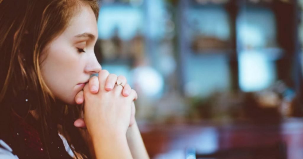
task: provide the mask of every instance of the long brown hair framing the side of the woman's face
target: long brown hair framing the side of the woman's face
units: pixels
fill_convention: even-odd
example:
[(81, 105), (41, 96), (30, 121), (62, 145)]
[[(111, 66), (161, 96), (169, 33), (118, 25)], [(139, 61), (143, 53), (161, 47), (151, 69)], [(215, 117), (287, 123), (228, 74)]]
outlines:
[(47, 134), (46, 118), (55, 97), (42, 78), (40, 56), (83, 3), (98, 19), (98, 0), (0, 0), (0, 103), (30, 87), (38, 102), (42, 136)]

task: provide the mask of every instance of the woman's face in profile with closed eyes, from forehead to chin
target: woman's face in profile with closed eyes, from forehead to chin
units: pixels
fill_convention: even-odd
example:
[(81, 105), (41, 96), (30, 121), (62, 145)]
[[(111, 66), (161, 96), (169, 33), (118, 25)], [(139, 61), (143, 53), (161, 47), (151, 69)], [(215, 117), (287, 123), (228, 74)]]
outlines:
[(83, 5), (65, 31), (43, 51), (42, 77), (56, 98), (75, 104), (76, 94), (90, 75), (101, 70), (94, 53), (97, 36), (95, 14)]

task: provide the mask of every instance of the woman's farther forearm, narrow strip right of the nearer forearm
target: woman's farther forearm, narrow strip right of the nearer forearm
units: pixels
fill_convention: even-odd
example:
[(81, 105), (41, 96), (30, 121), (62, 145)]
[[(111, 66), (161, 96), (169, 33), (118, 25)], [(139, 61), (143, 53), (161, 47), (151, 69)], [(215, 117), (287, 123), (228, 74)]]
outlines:
[(134, 159), (149, 159), (139, 128), (135, 122), (126, 132), (128, 147)]

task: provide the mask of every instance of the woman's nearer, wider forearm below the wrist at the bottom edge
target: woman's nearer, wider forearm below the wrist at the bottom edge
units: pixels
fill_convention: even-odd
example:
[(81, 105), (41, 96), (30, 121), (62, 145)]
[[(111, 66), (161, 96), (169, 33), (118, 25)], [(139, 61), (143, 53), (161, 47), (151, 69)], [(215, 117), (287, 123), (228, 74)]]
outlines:
[(132, 159), (125, 135), (102, 134), (92, 141), (97, 159)]

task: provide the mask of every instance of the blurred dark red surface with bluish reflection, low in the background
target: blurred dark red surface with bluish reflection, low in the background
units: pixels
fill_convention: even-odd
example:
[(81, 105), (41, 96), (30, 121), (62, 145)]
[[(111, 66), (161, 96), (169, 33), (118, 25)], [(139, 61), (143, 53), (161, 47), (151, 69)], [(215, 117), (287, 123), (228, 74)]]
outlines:
[(288, 159), (303, 158), (303, 120), (290, 119), (281, 124), (251, 125), (139, 125), (151, 158), (172, 150), (184, 150), (203, 143), (203, 133), (217, 130), (218, 148), (260, 147), (284, 141)]

